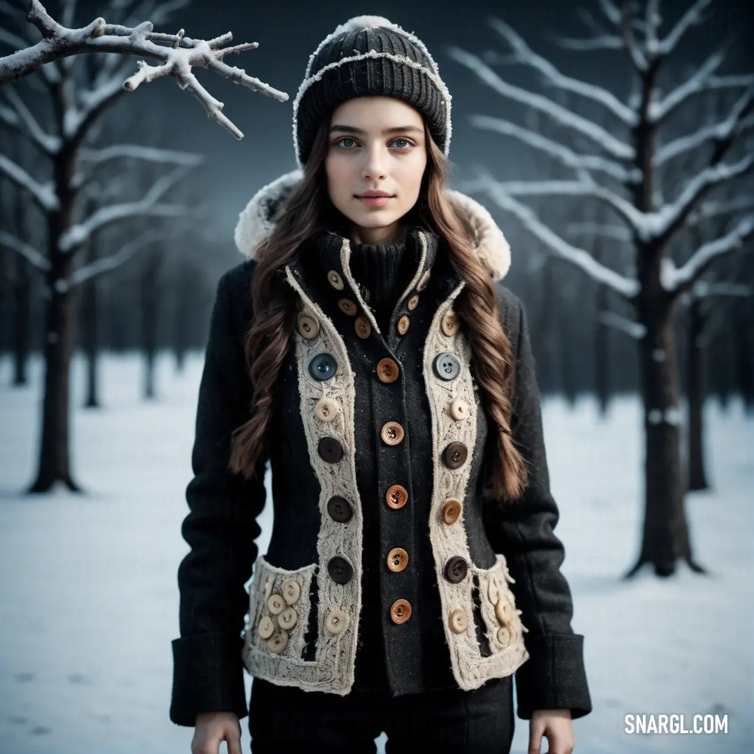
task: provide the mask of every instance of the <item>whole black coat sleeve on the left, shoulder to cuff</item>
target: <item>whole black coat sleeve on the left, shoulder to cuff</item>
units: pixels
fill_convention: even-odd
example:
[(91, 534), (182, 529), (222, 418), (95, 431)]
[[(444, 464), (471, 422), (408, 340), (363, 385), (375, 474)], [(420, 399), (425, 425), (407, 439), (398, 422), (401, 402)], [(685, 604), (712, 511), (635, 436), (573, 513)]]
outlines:
[(241, 277), (250, 279), (236, 268), (217, 286), (199, 388), (194, 477), (186, 488), (189, 513), (181, 529), (191, 549), (178, 569), (180, 638), (172, 642), (170, 720), (177, 725), (195, 725), (199, 713), (248, 714), (241, 661), (248, 609), (244, 584), (257, 555), (265, 460), (256, 479), (228, 470), (231, 433), (247, 420), (252, 397), (242, 328), (231, 302)]

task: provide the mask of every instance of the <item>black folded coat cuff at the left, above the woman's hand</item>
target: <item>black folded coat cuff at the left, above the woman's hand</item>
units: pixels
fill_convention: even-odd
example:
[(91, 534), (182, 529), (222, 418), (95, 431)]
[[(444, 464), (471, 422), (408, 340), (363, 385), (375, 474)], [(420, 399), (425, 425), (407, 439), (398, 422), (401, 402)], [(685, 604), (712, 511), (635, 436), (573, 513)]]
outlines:
[(203, 633), (173, 639), (173, 694), (170, 720), (193, 727), (196, 716), (249, 713), (241, 652), (244, 642), (229, 633)]

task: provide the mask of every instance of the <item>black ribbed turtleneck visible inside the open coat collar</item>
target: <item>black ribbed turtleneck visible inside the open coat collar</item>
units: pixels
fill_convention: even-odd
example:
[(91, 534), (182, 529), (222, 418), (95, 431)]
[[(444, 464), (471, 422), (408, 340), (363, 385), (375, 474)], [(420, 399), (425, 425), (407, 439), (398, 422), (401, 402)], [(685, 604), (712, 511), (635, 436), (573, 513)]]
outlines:
[(414, 245), (410, 236), (394, 244), (351, 243), (351, 273), (383, 333), (398, 297), (415, 274), (418, 259)]

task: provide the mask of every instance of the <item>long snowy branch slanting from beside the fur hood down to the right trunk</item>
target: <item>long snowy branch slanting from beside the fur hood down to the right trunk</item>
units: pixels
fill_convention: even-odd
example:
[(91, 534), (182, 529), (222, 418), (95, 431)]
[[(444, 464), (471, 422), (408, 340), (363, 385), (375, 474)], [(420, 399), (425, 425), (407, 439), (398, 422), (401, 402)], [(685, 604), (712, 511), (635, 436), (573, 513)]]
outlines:
[(615, 270), (611, 270), (600, 262), (597, 262), (593, 256), (590, 256), (583, 249), (579, 249), (564, 241), (539, 219), (531, 207), (526, 207), (526, 205), (516, 201), (504, 190), (503, 185), (490, 176), (489, 173), (486, 173), (482, 169), (478, 170), (478, 173), (480, 175), (480, 185), (487, 195), (489, 195), (489, 198), (501, 209), (516, 215), (523, 225), (543, 241), (559, 258), (571, 262), (572, 265), (584, 271), (593, 280), (608, 286), (611, 290), (614, 290), (626, 299), (633, 299), (639, 293), (639, 284), (636, 280), (624, 277)]

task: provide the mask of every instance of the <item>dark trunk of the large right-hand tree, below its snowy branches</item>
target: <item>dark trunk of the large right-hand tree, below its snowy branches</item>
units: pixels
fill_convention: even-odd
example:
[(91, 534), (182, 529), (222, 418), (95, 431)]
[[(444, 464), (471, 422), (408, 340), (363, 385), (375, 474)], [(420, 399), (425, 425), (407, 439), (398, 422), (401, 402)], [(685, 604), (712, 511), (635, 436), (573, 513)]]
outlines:
[(685, 560), (694, 571), (702, 571), (691, 556), (684, 509), (672, 307), (645, 300), (639, 308), (645, 309), (639, 314), (647, 328), (639, 346), (645, 428), (644, 526), (639, 559), (627, 577), (645, 563), (653, 567), (656, 575), (670, 576), (678, 559)]

